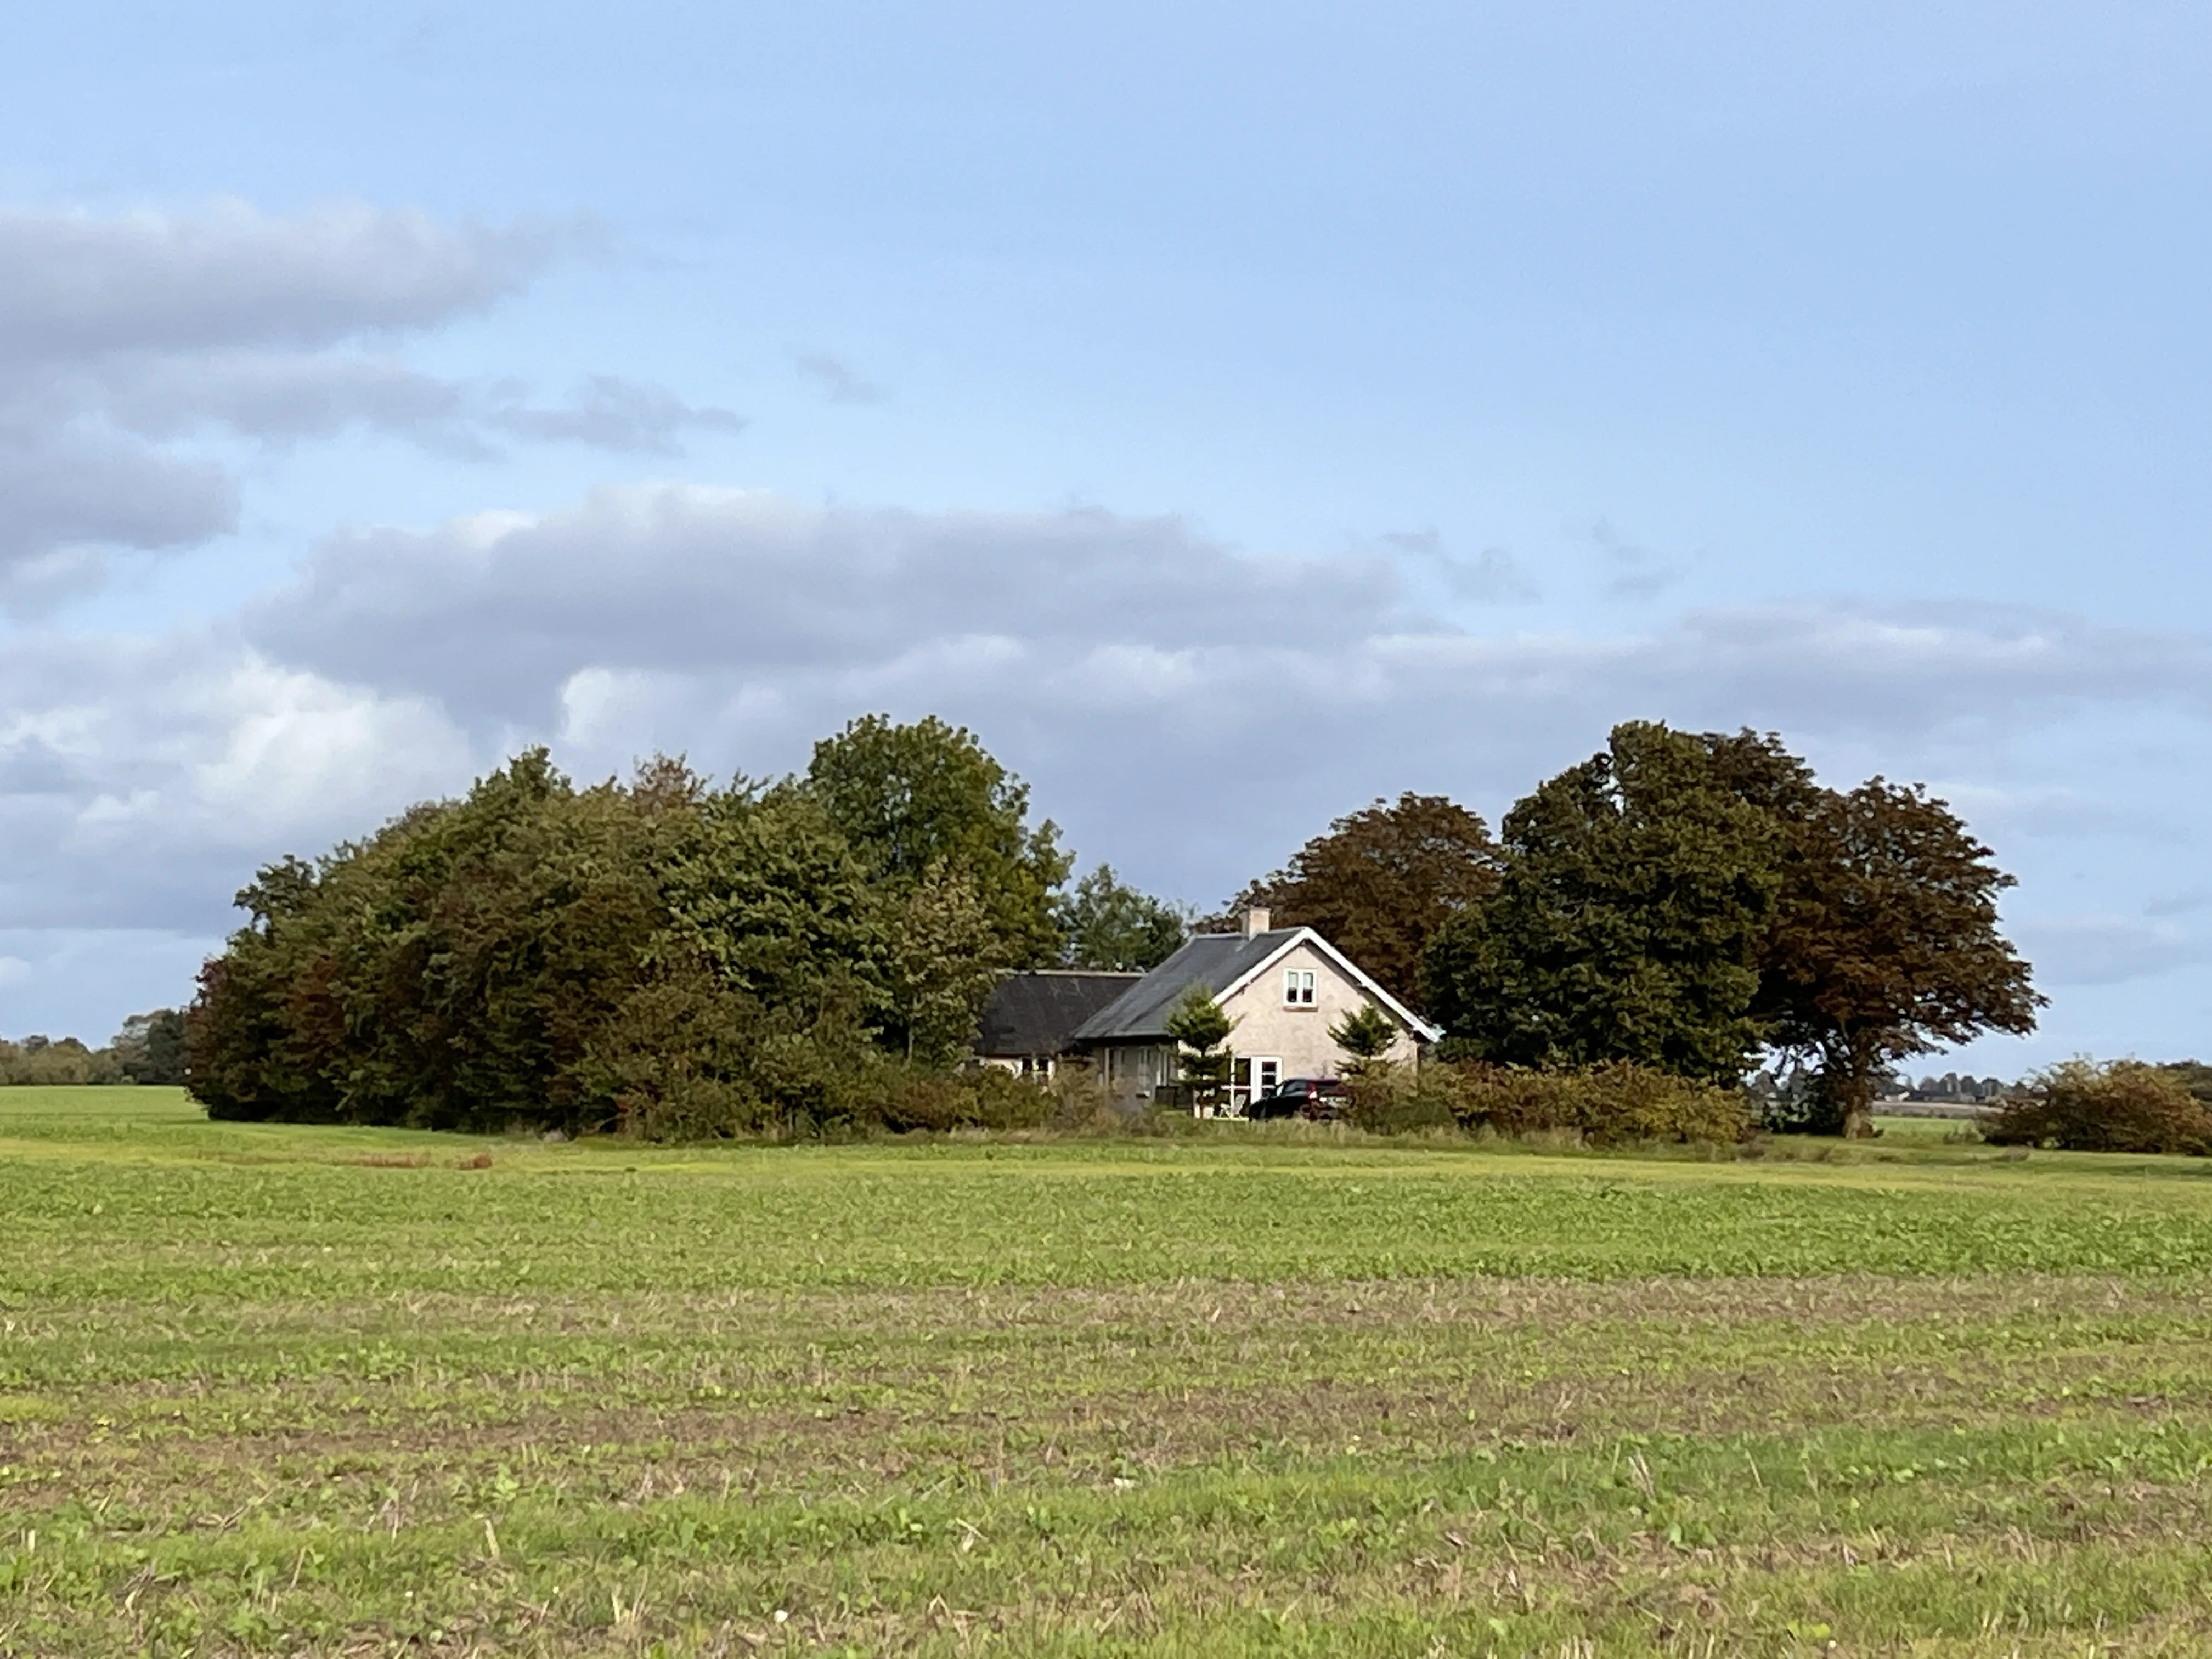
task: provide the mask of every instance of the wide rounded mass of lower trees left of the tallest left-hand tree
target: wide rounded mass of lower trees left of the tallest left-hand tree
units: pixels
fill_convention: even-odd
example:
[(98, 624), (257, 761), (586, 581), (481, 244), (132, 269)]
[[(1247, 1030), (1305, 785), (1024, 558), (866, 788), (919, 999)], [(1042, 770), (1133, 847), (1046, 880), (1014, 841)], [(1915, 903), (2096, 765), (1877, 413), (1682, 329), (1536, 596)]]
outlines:
[(575, 790), (529, 752), (239, 898), (186, 1020), (219, 1117), (821, 1121), (887, 1006), (885, 898), (823, 805), (681, 761)]

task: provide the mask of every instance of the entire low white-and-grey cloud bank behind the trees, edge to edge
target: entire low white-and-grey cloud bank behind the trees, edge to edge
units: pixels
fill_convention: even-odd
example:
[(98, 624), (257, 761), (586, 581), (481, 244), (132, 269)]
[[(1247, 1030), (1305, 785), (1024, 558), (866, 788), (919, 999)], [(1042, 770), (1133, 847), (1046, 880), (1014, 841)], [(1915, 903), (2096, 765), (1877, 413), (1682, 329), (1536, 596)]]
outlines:
[[(1863, 606), (1484, 635), (1422, 613), (1383, 555), (661, 484), (334, 538), (221, 626), (13, 653), (0, 708), (0, 931), (212, 931), (254, 863), (524, 741), (584, 774), (653, 748), (768, 772), (874, 708), (971, 723), (1079, 849), (1201, 900), (1376, 794), (1495, 812), (1632, 714), (1778, 728), (1838, 776), (1933, 776), (2008, 863), (2039, 838), (2077, 856), (2154, 836), (2170, 856), (2192, 830), (2110, 812), (2093, 757), (2115, 730), (2201, 739), (2212, 644)], [(2037, 902), (2059, 982), (2203, 956), (2188, 918)]]

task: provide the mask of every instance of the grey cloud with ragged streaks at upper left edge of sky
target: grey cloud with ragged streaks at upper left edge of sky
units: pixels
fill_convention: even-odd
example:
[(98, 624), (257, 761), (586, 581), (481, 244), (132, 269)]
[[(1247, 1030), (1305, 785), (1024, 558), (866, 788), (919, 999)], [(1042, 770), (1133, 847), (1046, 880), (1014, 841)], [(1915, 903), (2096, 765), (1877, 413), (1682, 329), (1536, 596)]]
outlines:
[(741, 427), (611, 376), (535, 405), (392, 356), (591, 241), (573, 223), (440, 226), (365, 206), (0, 212), (0, 604), (95, 584), (102, 549), (230, 529), (237, 484), (195, 451), (210, 436), (283, 447), (372, 429), (484, 460), (502, 440), (677, 453), (686, 431)]

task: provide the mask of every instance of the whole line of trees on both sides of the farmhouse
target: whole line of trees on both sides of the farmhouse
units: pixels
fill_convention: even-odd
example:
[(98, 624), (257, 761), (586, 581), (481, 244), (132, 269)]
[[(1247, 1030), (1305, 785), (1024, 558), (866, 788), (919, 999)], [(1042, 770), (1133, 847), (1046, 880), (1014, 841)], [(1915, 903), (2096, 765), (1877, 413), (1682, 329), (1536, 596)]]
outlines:
[[(1073, 858), (962, 728), (852, 721), (805, 772), (544, 750), (239, 894), (190, 1088), (219, 1117), (655, 1135), (869, 1121), (958, 1066), (1011, 969), (1144, 969), (1194, 918)], [(1902, 1055), (2026, 1031), (2011, 883), (1942, 801), (1829, 790), (1778, 739), (1615, 728), (1493, 838), (1444, 796), (1347, 814), (1232, 900), (1310, 922), (1517, 1068), (1741, 1084), (1805, 1055), (1792, 1126), (1863, 1119)], [(1206, 922), (1199, 920), (1199, 927)]]

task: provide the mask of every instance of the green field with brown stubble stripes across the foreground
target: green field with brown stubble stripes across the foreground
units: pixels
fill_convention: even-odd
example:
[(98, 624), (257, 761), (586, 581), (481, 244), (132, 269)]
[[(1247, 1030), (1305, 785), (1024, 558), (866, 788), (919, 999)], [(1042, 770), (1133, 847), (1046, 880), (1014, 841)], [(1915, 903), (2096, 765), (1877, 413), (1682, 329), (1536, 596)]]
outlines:
[(4, 1655), (2201, 1655), (2212, 1166), (0, 1091)]

